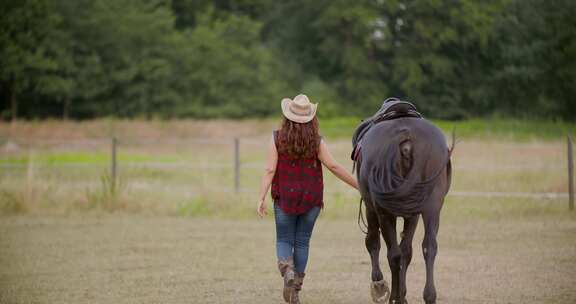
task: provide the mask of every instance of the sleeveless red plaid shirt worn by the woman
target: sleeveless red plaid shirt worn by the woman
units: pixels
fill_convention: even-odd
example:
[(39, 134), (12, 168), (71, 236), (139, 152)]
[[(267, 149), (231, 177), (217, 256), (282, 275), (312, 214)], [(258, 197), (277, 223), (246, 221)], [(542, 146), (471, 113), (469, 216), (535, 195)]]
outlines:
[[(277, 132), (274, 142), (278, 150)], [(278, 153), (276, 173), (272, 180), (272, 199), (287, 214), (302, 214), (323, 206), (324, 182), (318, 157), (290, 158)]]

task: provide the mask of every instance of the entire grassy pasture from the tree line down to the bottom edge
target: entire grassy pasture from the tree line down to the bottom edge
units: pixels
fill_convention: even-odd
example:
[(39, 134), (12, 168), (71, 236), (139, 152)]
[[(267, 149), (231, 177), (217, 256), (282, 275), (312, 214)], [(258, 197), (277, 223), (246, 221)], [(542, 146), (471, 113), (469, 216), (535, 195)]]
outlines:
[[(282, 303), (273, 221), (254, 215), (263, 146), (276, 125), (0, 124), (0, 303)], [(567, 208), (562, 136), (574, 126), (502, 125), (515, 124), (457, 127), (436, 260), (439, 303), (573, 303), (576, 216)], [(321, 125), (347, 167), (353, 126)], [(112, 135), (119, 138), (114, 192)], [(368, 303), (359, 197), (326, 172), (325, 184), (303, 300)], [(421, 229), (410, 303), (422, 301)], [(385, 250), (381, 263), (386, 277)]]

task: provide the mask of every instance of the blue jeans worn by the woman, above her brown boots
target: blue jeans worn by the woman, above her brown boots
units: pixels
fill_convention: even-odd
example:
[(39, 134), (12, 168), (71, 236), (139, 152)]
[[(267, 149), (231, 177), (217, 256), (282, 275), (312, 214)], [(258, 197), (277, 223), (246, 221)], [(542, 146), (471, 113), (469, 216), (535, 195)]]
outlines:
[(276, 255), (278, 260), (294, 259), (296, 272), (304, 273), (308, 263), (310, 237), (314, 229), (320, 207), (314, 207), (304, 214), (286, 214), (274, 204), (276, 219)]

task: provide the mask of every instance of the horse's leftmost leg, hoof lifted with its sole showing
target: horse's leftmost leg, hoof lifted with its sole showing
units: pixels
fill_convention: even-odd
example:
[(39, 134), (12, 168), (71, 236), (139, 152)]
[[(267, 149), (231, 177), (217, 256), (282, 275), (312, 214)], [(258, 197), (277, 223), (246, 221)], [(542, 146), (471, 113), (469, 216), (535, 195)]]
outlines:
[(368, 232), (366, 234), (365, 244), (370, 261), (372, 263), (372, 283), (370, 284), (370, 295), (375, 303), (386, 303), (390, 296), (388, 283), (384, 280), (382, 270), (380, 269), (380, 227), (378, 216), (371, 206), (366, 204), (366, 219), (368, 222)]

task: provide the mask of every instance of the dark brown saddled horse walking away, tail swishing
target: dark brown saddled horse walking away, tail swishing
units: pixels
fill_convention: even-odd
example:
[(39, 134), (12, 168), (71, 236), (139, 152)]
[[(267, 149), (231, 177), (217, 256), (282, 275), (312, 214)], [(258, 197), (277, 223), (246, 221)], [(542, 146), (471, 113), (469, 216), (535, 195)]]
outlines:
[[(365, 245), (372, 264), (371, 296), (376, 303), (407, 303), (406, 272), (420, 216), (426, 263), (423, 298), (426, 304), (436, 303), (436, 237), (452, 178), (454, 133), (452, 136), (452, 146), (448, 147), (438, 127), (424, 119), (413, 104), (395, 98), (387, 99), (354, 133), (352, 158), (361, 194), (359, 223), (364, 203)], [(400, 243), (396, 233), (399, 217), (403, 218)], [(380, 269), (380, 233), (386, 242), (391, 291)]]

